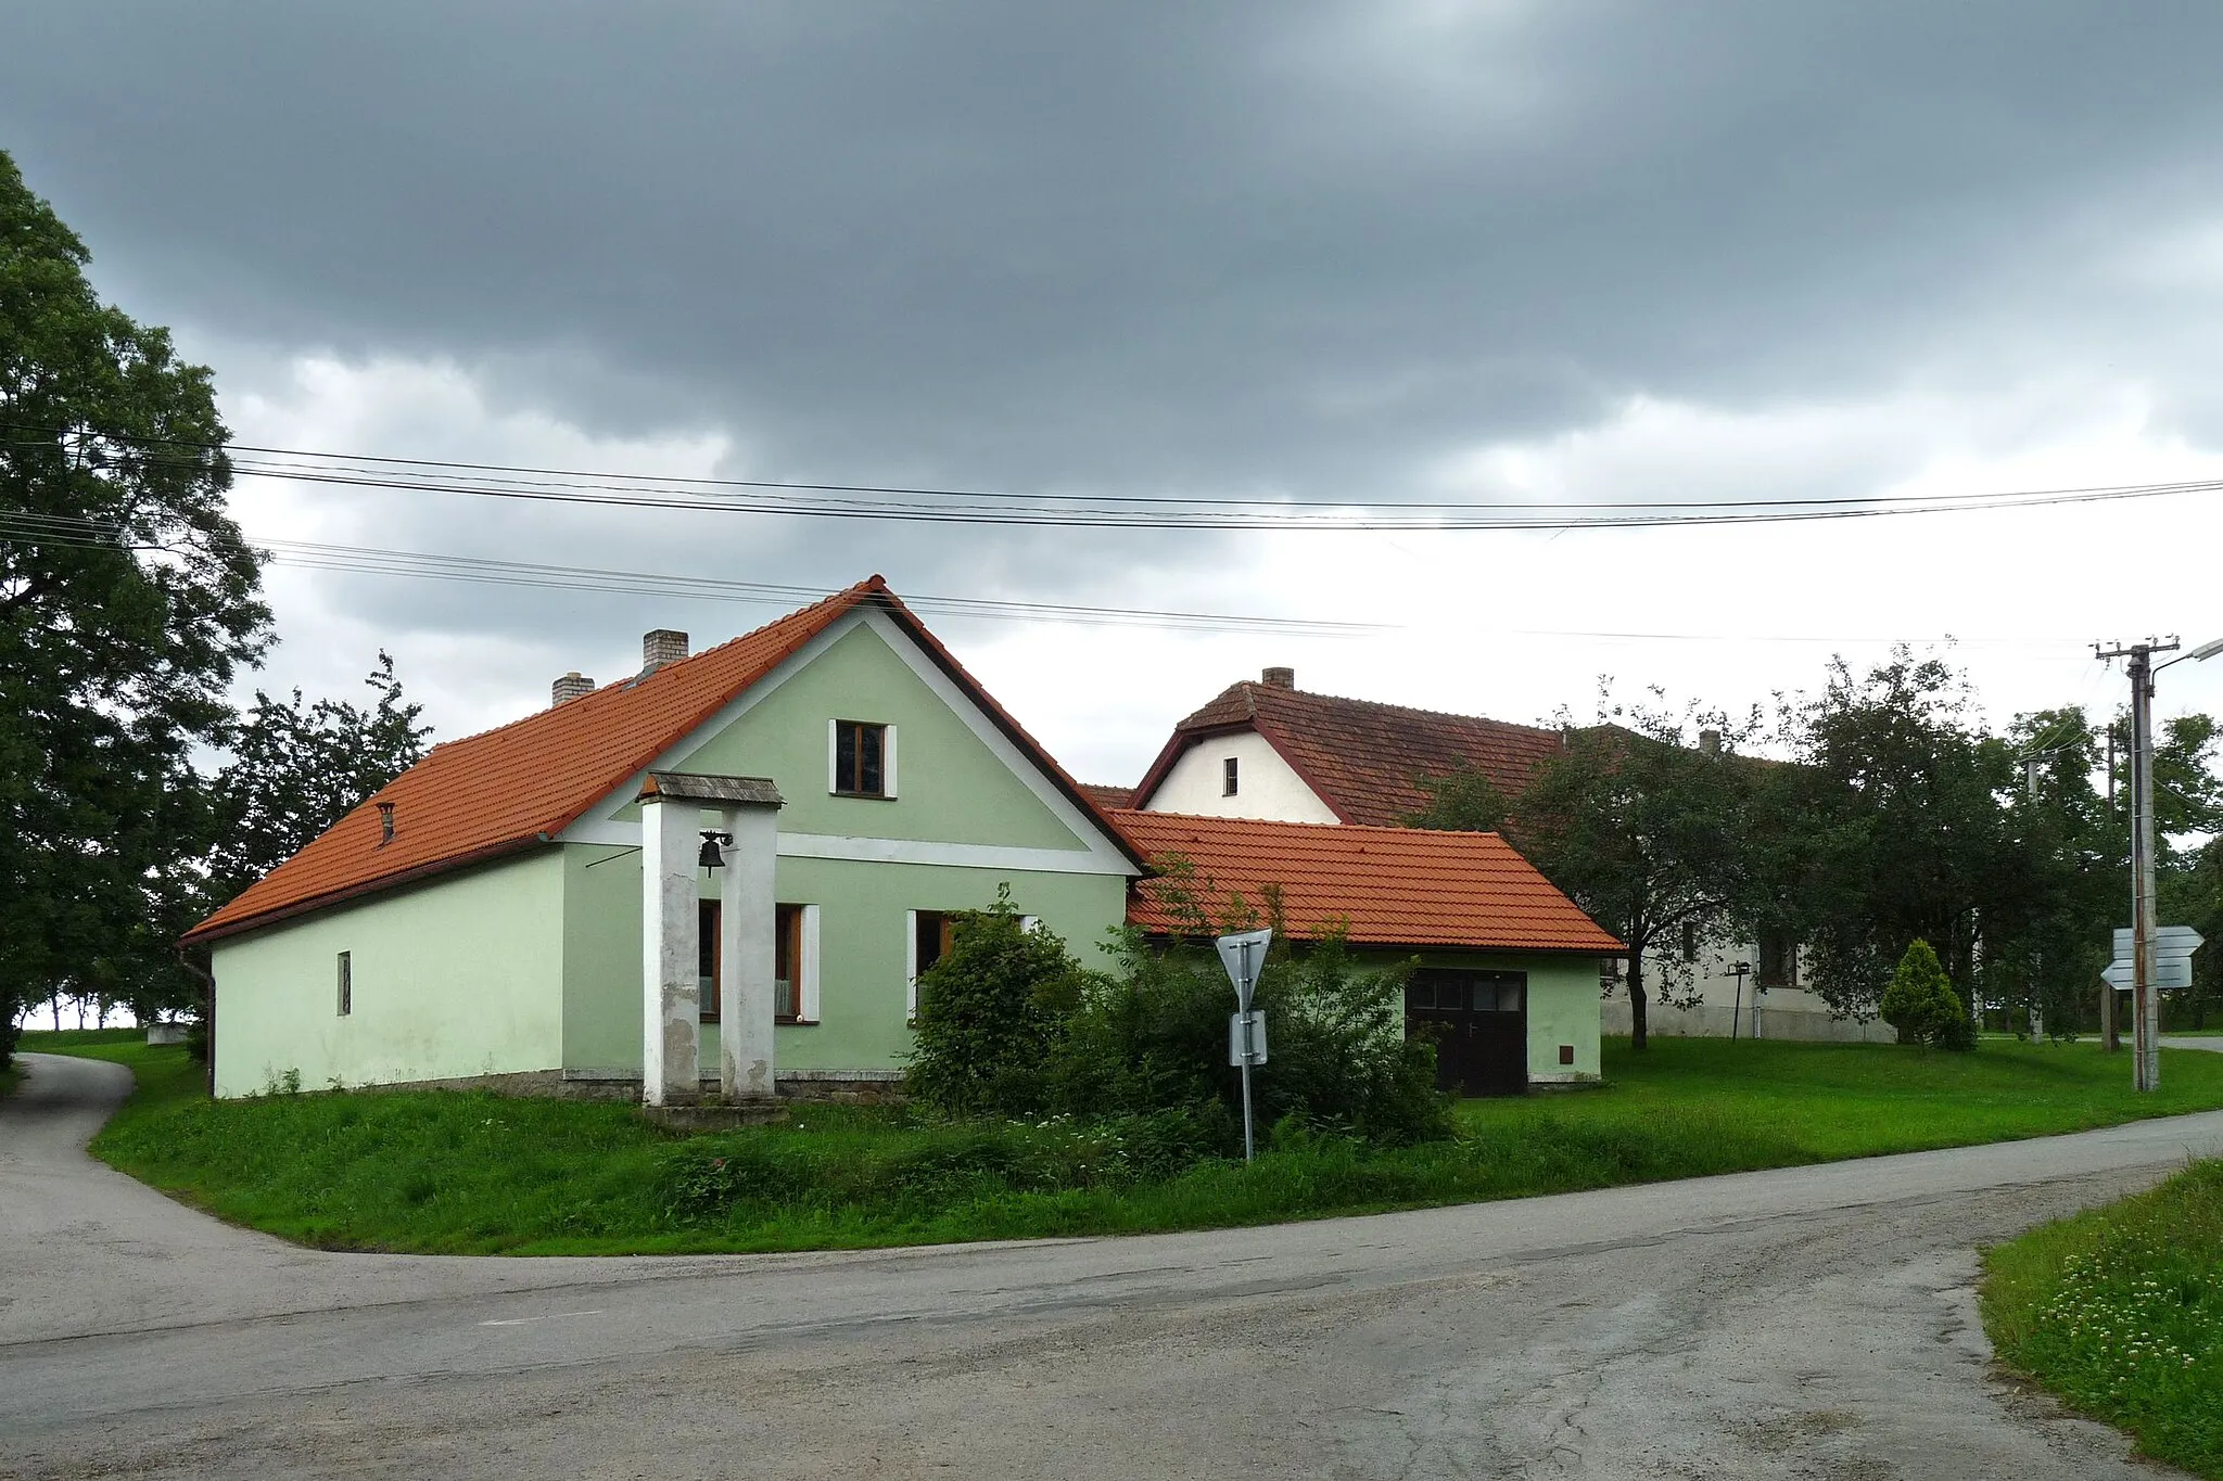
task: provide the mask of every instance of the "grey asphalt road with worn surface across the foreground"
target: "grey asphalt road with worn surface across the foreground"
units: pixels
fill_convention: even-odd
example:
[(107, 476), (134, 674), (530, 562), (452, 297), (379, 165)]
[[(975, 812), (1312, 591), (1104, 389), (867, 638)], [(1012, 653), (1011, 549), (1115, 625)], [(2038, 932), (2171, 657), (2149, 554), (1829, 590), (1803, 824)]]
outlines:
[(1974, 1250), (2223, 1112), (1374, 1219), (416, 1259), (231, 1230), (0, 1108), (0, 1477), (2152, 1477), (1987, 1370)]

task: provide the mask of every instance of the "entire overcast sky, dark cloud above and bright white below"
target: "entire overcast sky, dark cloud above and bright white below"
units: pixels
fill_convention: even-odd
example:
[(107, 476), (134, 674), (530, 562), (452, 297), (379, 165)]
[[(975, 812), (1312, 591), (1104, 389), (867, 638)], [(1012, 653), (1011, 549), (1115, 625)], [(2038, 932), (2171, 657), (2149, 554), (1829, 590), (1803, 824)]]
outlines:
[[(2223, 7), (18, 7), (0, 149), (240, 442), (1292, 500), (2223, 477)], [(2223, 635), (2223, 502), (1736, 531), (1069, 533), (236, 491), (407, 551), (1389, 624), (936, 619), (1080, 777), (1294, 664), (1541, 719), (1958, 639), (1994, 717)], [(440, 735), (778, 608), (278, 566), (262, 682)], [(2223, 662), (2161, 708), (2223, 711)]]

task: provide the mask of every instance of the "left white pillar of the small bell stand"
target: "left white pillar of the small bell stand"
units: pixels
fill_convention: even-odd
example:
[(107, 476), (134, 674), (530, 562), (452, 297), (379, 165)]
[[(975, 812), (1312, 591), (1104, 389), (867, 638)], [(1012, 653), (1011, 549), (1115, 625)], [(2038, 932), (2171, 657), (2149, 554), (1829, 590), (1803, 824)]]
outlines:
[[(654, 782), (651, 782), (654, 788)], [(640, 795), (640, 1101), (702, 1095), (702, 970), (696, 899), (700, 808)]]

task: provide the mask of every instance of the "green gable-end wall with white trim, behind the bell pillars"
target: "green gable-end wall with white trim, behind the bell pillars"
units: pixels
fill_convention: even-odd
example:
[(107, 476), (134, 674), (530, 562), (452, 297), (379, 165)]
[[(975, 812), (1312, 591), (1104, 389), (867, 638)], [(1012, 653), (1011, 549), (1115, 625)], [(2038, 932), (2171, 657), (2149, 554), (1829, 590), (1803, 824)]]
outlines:
[[(905, 639), (874, 622), (849, 624), (760, 686), (736, 717), (660, 764), (771, 777), (780, 788), (774, 895), (778, 904), (818, 906), (818, 1021), (774, 1030), (776, 1072), (903, 1066), (911, 1046), (911, 910), (978, 910), (994, 904), (998, 884), (1009, 884), (1014, 904), (1065, 937), (1083, 961), (1094, 961), (1096, 944), (1125, 921), (1132, 866), (1100, 844), (1091, 848), (1060, 817), (1071, 804), (1047, 802), (1047, 782), (1031, 766), (1014, 768), (1000, 733), (983, 737), (978, 713), (960, 713), (896, 644)], [(831, 793), (831, 719), (894, 726), (894, 797)], [(618, 808), (609, 824), (638, 813)], [(638, 1075), (640, 855), (622, 842), (576, 842), (562, 853), (562, 1064), (571, 1072)], [(716, 899), (718, 888), (698, 870), (702, 899)], [(718, 1024), (702, 1026), (700, 1046), (702, 1064), (718, 1064)]]

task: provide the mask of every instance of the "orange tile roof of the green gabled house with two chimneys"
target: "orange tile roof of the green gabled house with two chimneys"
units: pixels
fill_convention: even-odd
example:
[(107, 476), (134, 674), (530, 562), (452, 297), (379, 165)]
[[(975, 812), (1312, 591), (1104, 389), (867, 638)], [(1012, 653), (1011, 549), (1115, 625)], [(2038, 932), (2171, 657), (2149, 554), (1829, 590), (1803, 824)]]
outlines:
[[(754, 633), (605, 684), (547, 711), (431, 753), (365, 799), (307, 848), (193, 926), (207, 941), (425, 875), (554, 842), (587, 808), (676, 746), (751, 684), (858, 606), (887, 611), (965, 688), (1020, 750), (1103, 824), (1125, 837), (1049, 759), (1049, 753), (936, 639), (878, 575), (789, 613)], [(380, 846), (378, 804), (393, 806), (393, 842)], [(1140, 855), (1134, 855), (1140, 864)]]

